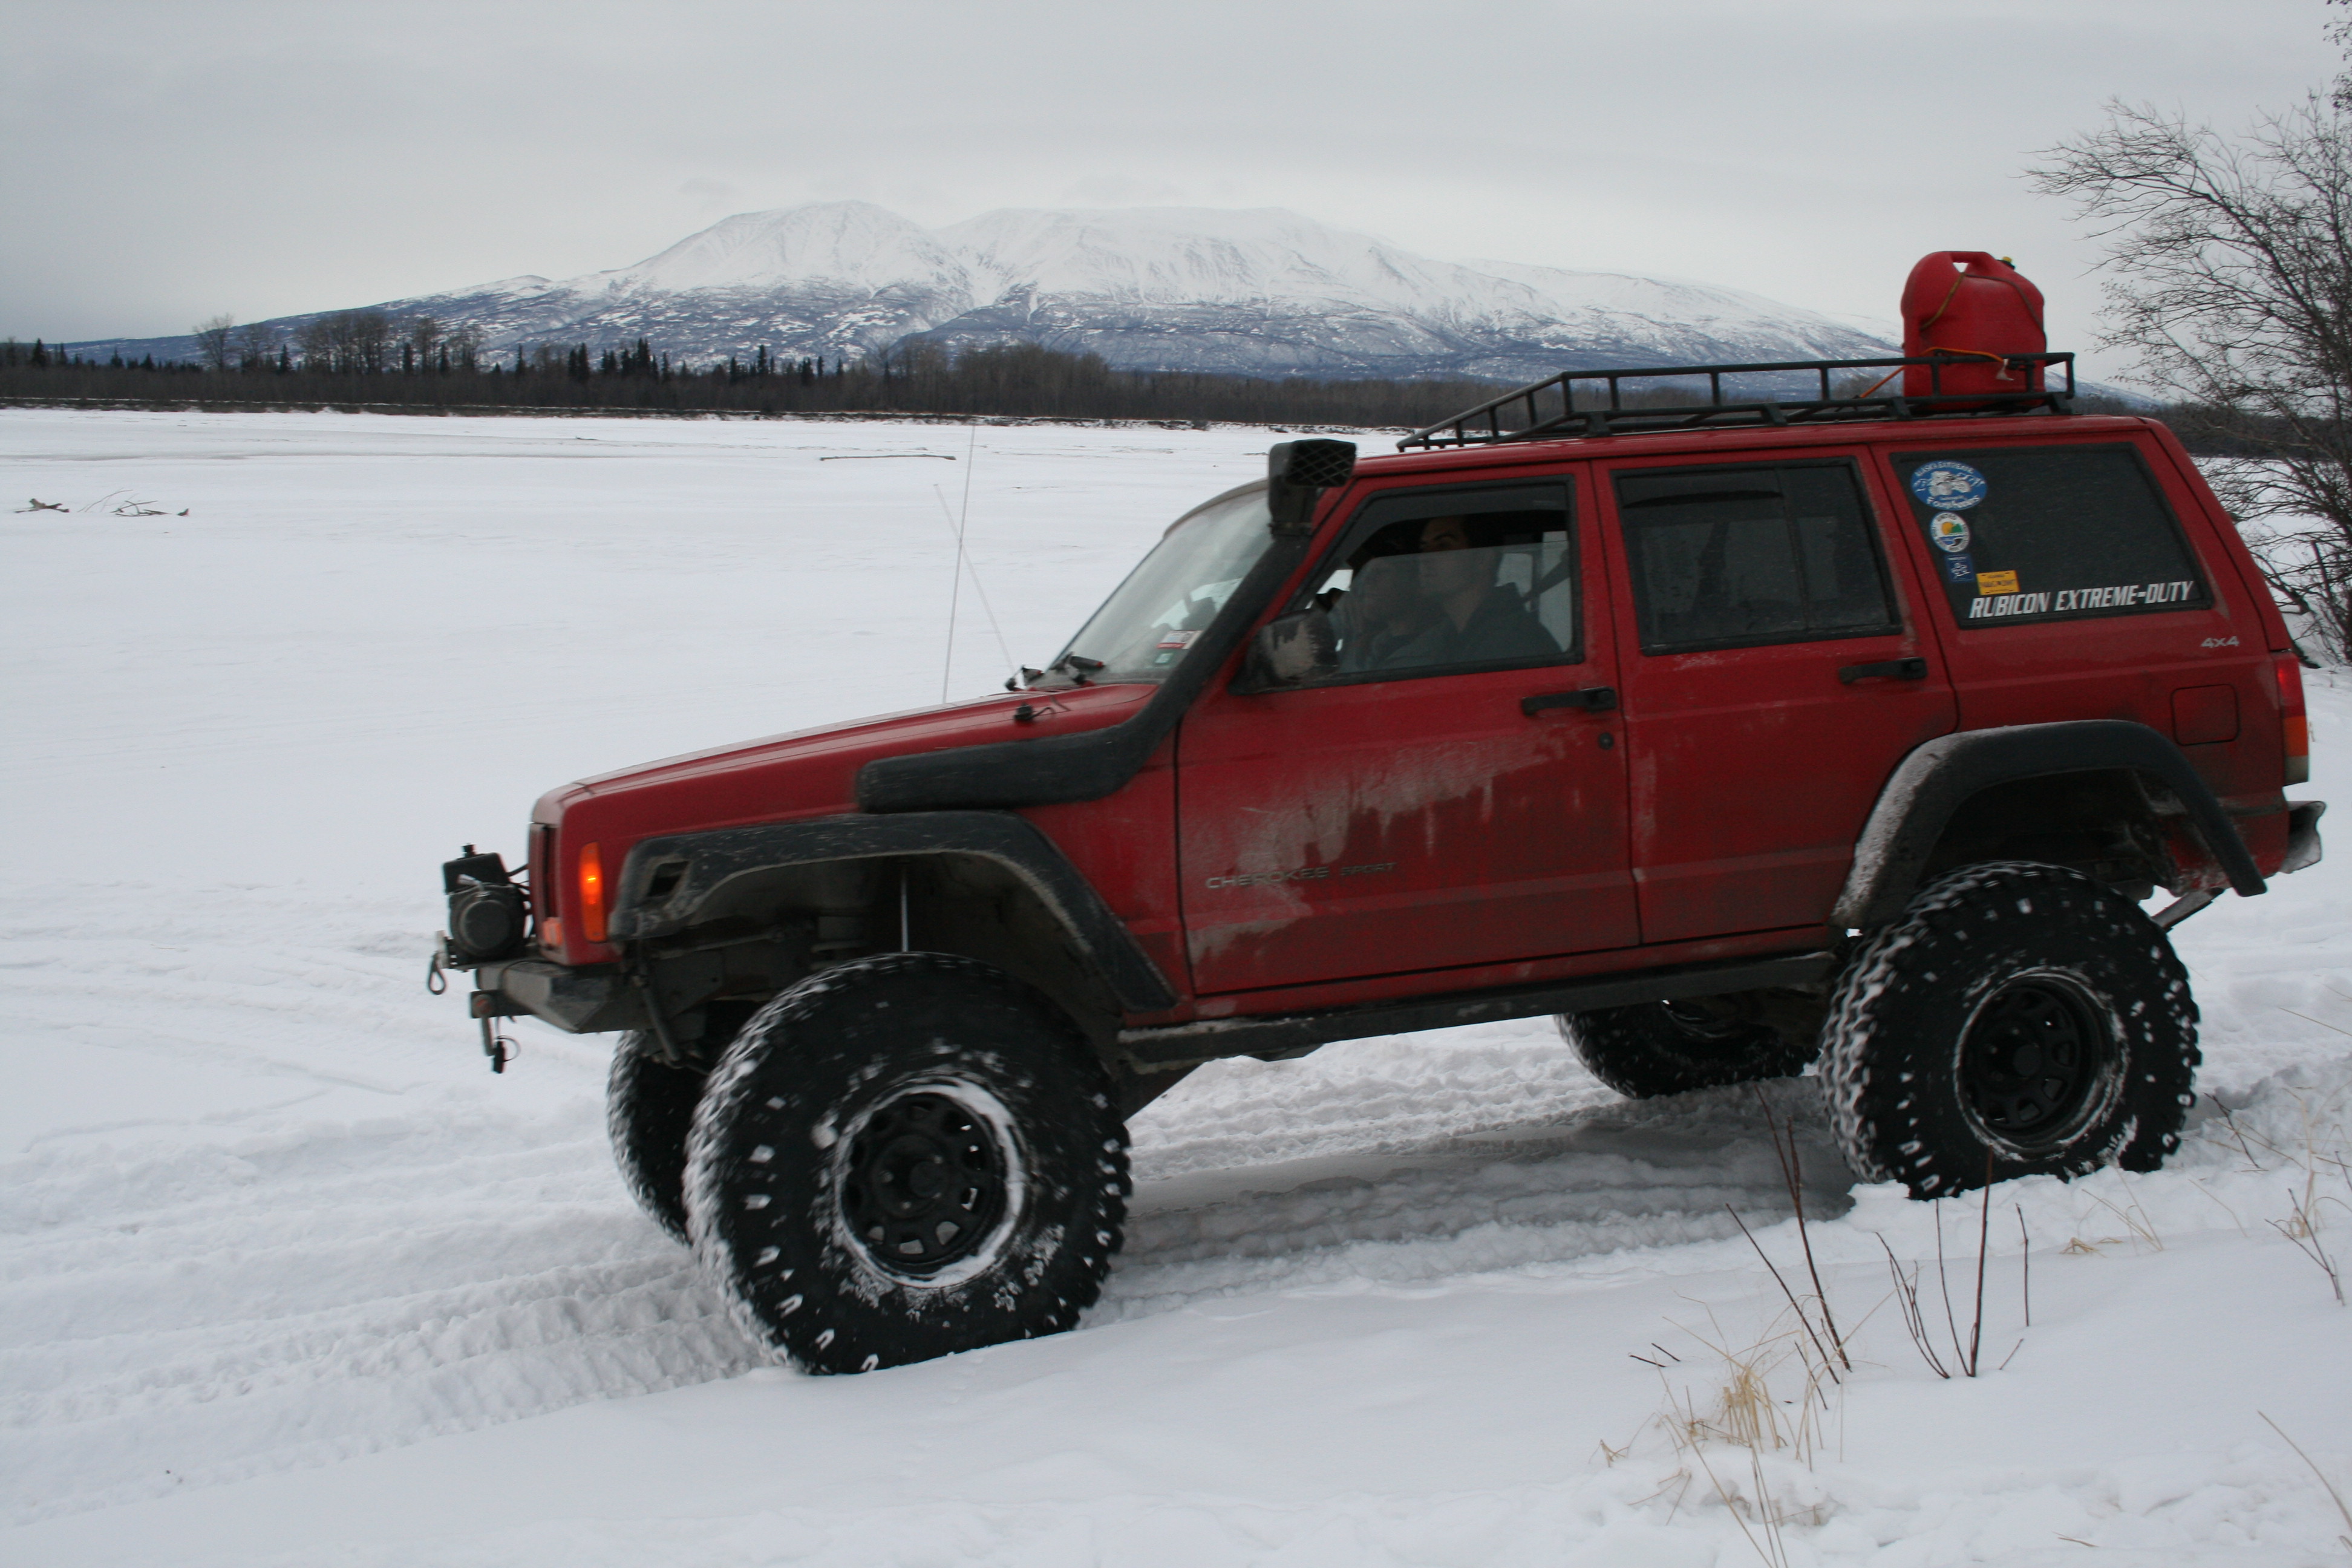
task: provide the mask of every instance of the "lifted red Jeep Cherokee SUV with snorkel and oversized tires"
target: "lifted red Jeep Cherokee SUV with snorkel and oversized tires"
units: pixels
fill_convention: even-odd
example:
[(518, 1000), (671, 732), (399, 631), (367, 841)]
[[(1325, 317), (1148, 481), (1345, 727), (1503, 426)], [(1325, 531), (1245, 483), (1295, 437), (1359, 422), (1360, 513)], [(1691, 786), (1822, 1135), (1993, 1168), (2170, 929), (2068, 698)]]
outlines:
[(1952, 364), (1284, 442), (1021, 691), (553, 790), (440, 964), (494, 1063), (623, 1032), (621, 1171), (811, 1371), (1075, 1324), (1124, 1119), (1225, 1056), (1557, 1013), (1630, 1095), (1820, 1056), (1919, 1197), (2152, 1168), (2166, 926), (2319, 858), (2298, 661), (2164, 425)]

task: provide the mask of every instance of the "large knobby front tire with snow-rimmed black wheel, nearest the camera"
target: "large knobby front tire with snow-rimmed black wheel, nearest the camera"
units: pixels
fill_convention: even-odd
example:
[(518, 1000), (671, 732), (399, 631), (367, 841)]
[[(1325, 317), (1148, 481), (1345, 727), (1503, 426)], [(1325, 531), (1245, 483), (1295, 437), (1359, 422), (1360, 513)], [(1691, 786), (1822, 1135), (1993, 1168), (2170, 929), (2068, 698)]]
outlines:
[(1070, 1328), (1120, 1251), (1127, 1192), (1127, 1128), (1077, 1025), (936, 952), (776, 997), (687, 1138), (696, 1258), (811, 1373)]

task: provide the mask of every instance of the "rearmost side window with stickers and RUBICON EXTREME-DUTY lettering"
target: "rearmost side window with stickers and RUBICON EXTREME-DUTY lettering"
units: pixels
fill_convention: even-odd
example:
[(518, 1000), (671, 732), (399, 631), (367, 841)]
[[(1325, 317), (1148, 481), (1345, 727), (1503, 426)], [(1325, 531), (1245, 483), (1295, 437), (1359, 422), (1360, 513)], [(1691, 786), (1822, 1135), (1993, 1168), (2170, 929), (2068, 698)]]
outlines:
[(2129, 444), (1915, 454), (1896, 475), (1962, 628), (2213, 604)]

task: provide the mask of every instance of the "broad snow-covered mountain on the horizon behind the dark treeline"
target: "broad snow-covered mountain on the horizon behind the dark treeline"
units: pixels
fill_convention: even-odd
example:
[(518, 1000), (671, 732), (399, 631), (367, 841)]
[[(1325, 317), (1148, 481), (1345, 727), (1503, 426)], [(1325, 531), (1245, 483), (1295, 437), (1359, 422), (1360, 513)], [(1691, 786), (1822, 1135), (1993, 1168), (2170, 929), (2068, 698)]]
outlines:
[[(1023, 341), (1141, 371), (1534, 381), (1604, 364), (1891, 353), (1846, 322), (1738, 289), (1435, 261), (1275, 207), (1000, 209), (922, 228), (870, 202), (814, 202), (724, 219), (612, 273), (508, 277), (374, 308), (473, 327), (496, 353), (642, 336), (689, 360)], [(188, 357), (193, 341), (73, 348)]]

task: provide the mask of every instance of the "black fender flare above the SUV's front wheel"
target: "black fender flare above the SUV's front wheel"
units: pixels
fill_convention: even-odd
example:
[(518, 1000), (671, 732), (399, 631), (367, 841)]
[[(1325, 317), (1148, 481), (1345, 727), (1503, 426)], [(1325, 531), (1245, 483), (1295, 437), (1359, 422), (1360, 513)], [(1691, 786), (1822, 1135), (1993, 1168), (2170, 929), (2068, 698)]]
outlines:
[[(1094, 884), (1035, 823), (1009, 811), (818, 816), (797, 823), (710, 827), (642, 839), (621, 863), (609, 929), (616, 940), (670, 936), (691, 926), (694, 914), (727, 882), (748, 872), (901, 856), (995, 860), (1061, 922), (1122, 1009), (1157, 1013), (1176, 1006), (1176, 992), (1167, 976), (1136, 945), (1134, 933), (1110, 912)], [(687, 870), (659, 907), (647, 907), (647, 882), (652, 882), (654, 867), (666, 860), (687, 860)]]

